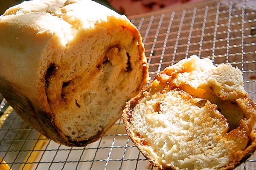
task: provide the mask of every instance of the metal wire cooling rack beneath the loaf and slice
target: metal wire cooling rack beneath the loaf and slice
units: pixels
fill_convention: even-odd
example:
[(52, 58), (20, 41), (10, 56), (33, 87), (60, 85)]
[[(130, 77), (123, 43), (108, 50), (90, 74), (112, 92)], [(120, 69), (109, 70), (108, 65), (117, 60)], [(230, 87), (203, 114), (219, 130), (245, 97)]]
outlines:
[[(241, 69), (244, 88), (256, 103), (256, 0), (205, 1), (129, 19), (143, 36), (151, 78), (195, 54), (210, 58), (215, 65), (228, 63)], [(4, 160), (0, 166), (6, 169), (154, 169), (128, 138), (122, 120), (87, 147), (65, 147), (11, 111), (5, 112), (7, 119), (0, 119), (0, 157)], [(237, 169), (255, 169), (255, 160), (253, 155)]]

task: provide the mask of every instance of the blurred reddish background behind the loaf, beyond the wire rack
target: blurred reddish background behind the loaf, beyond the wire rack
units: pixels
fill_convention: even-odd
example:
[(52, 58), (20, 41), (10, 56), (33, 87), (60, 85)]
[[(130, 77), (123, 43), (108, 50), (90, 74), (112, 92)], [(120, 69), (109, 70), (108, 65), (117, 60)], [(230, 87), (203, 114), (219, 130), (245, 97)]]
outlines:
[[(24, 0), (0, 0), (0, 15), (6, 9), (21, 3)], [(179, 6), (184, 3), (191, 3), (200, 0), (94, 0), (115, 10), (119, 14), (127, 16), (153, 12), (161, 9), (167, 9), (173, 6)]]

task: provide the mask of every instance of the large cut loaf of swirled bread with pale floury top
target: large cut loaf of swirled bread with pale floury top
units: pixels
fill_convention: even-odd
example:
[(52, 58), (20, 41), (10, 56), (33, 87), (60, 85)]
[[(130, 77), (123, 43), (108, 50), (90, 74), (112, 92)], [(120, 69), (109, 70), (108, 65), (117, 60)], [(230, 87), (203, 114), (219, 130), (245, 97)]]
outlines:
[(91, 0), (31, 0), (0, 16), (0, 92), (46, 137), (67, 146), (98, 140), (142, 89), (142, 37)]

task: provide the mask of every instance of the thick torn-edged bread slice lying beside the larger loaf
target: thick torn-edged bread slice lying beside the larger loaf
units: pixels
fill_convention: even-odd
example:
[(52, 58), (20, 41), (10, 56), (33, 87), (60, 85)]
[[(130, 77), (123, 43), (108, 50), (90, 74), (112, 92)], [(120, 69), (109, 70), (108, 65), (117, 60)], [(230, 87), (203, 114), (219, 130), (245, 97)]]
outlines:
[(256, 106), (239, 69), (193, 55), (156, 75), (122, 114), (157, 170), (227, 170), (256, 149)]

